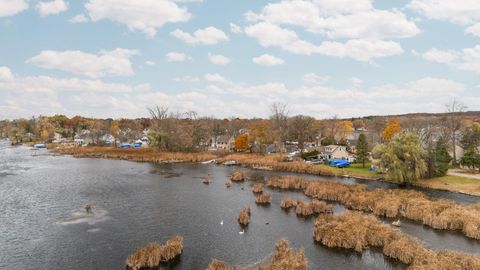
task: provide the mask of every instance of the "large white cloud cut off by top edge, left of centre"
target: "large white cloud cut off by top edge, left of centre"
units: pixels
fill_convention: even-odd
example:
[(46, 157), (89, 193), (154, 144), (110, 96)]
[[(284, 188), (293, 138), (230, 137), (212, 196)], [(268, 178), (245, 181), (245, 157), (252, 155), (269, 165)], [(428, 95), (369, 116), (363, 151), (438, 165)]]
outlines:
[(89, 0), (85, 4), (92, 21), (109, 19), (149, 37), (166, 23), (186, 22), (191, 14), (171, 0)]

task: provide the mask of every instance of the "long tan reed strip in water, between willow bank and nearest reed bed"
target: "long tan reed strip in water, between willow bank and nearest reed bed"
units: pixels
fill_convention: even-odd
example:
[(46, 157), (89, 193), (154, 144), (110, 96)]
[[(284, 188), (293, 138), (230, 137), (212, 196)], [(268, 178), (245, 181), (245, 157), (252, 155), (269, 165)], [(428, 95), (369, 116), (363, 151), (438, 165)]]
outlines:
[[(281, 189), (303, 189), (309, 197), (336, 201), (349, 209), (391, 218), (403, 216), (435, 229), (459, 230), (467, 237), (480, 239), (479, 205), (432, 200), (424, 193), (414, 190), (378, 188), (369, 191), (365, 185), (305, 181), (290, 176), (271, 178), (267, 185)], [(301, 209), (302, 207), (300, 206)]]

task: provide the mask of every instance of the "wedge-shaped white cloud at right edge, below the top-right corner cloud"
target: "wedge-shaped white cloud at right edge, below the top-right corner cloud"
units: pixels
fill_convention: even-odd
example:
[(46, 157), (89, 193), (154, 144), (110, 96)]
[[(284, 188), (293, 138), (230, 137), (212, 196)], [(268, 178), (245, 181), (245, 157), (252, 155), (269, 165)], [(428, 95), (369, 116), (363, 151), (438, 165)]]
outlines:
[(423, 54), (428, 61), (450, 65), (460, 70), (480, 73), (480, 45), (457, 50), (430, 49)]

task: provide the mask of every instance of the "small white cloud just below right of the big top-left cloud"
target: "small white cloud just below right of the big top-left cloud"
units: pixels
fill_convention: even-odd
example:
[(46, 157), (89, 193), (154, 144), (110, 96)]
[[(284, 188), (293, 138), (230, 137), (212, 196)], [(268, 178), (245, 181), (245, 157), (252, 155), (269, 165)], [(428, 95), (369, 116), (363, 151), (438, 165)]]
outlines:
[(220, 29), (209, 26), (204, 29), (198, 29), (193, 34), (176, 29), (170, 34), (190, 45), (214, 45), (222, 41), (228, 41), (227, 35)]

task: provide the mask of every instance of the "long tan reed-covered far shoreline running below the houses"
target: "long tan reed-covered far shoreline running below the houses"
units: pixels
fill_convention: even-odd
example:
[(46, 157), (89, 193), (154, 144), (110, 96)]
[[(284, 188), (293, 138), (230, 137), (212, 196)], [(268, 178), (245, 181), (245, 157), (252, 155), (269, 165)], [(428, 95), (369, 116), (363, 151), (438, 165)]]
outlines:
[[(351, 177), (360, 180), (382, 181), (382, 177), (370, 177), (347, 170), (342, 173), (336, 171), (336, 168), (324, 167), (319, 165), (306, 164), (300, 161), (283, 162), (281, 155), (259, 155), (252, 153), (181, 153), (181, 152), (160, 152), (150, 148), (144, 149), (120, 149), (113, 147), (67, 147), (67, 148), (49, 148), (51, 153), (57, 155), (71, 155), (75, 158), (104, 158), (113, 160), (128, 160), (134, 162), (152, 162), (157, 164), (173, 163), (201, 163), (212, 161), (215, 164), (224, 164), (228, 161), (235, 161), (235, 166), (242, 166), (256, 170), (271, 170), (281, 172), (291, 172), (307, 175)], [(348, 171), (348, 173), (344, 173)], [(445, 178), (446, 179), (446, 178)], [(447, 183), (438, 179), (420, 179), (413, 185), (420, 188), (429, 188), (443, 190), (459, 194), (480, 197), (480, 181), (478, 184), (456, 184)], [(394, 183), (394, 182), (389, 182)], [(470, 190), (465, 190), (465, 188)]]

